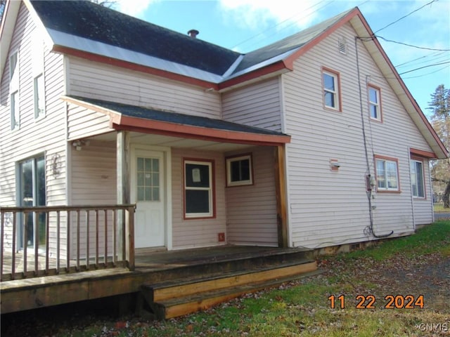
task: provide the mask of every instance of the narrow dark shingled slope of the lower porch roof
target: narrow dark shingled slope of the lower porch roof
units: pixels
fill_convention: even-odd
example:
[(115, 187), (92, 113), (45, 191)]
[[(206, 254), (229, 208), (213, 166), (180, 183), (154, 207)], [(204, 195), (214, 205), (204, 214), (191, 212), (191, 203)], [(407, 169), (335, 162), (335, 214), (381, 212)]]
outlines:
[(84, 98), (70, 95), (70, 98), (82, 100), (83, 102), (103, 107), (114, 112), (119, 112), (129, 117), (142, 119), (150, 119), (153, 121), (165, 121), (168, 123), (182, 124), (188, 126), (200, 126), (203, 128), (215, 128), (217, 130), (237, 131), (245, 133), (258, 133), (261, 135), (286, 136), (278, 131), (266, 130), (265, 128), (257, 128), (255, 126), (246, 126), (243, 124), (232, 123), (231, 121), (223, 121), (221, 119), (212, 119), (206, 117), (191, 116), (188, 114), (179, 114), (176, 112), (167, 112), (162, 110), (153, 110), (146, 107), (137, 107), (136, 105), (127, 105), (122, 103), (108, 102), (105, 100), (94, 100), (92, 98)]

